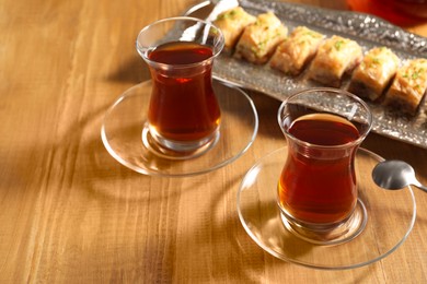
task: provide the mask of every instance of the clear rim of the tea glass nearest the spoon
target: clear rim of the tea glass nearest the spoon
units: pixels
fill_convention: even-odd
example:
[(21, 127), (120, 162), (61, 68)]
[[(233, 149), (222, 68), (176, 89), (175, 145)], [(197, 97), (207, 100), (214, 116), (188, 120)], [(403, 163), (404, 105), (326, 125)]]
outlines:
[[(320, 144), (310, 143), (310, 142), (303, 141), (301, 139), (298, 139), (293, 134), (286, 131), (286, 129), (282, 127), (282, 119), (281, 119), (282, 118), (281, 114), (284, 111), (284, 108), (288, 105), (288, 103), (292, 98), (295, 98), (301, 94), (304, 94), (304, 93), (314, 93), (314, 92), (344, 94), (344, 95), (350, 97), (351, 99), (355, 99), (357, 103), (359, 103), (367, 110), (367, 126), (368, 126), (368, 128), (365, 129), (365, 131), (362, 133), (359, 133), (358, 139), (350, 141), (350, 142), (347, 142), (347, 143), (344, 143), (344, 144), (337, 144), (337, 145), (320, 145)], [(368, 104), (363, 99), (361, 99), (360, 97), (356, 96), (355, 94), (351, 94), (350, 92), (347, 92), (347, 91), (342, 90), (342, 88), (334, 88), (334, 87), (313, 87), (313, 88), (307, 88), (303, 91), (299, 91), (299, 92), (288, 96), (287, 98), (285, 98), (284, 102), (280, 104), (279, 109), (277, 111), (277, 121), (278, 121), (280, 130), (284, 132), (285, 137), (291, 139), (293, 142), (297, 142), (300, 145), (303, 145), (305, 147), (322, 149), (322, 150), (338, 150), (338, 149), (354, 147), (354, 146), (360, 145), (361, 142), (366, 139), (366, 137), (369, 134), (369, 132), (372, 129), (373, 116), (372, 116), (372, 111), (370, 110)]]

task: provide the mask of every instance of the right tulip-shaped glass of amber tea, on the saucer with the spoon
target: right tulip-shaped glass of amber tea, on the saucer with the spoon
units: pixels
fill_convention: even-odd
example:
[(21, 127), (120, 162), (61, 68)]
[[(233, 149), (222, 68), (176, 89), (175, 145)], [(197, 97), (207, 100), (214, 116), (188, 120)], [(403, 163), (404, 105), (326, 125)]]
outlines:
[(367, 217), (355, 156), (372, 127), (369, 107), (343, 90), (311, 88), (280, 105), (278, 122), (288, 145), (277, 189), (284, 224), (315, 244), (353, 239)]

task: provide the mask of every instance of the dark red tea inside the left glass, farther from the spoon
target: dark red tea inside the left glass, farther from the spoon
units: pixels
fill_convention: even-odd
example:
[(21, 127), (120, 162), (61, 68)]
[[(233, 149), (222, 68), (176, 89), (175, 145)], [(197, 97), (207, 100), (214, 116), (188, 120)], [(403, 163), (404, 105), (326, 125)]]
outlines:
[[(211, 84), (209, 60), (212, 49), (196, 43), (174, 42), (153, 49), (148, 58), (175, 66), (173, 71), (151, 68), (153, 90), (148, 119), (155, 132), (173, 141), (198, 141), (214, 133), (220, 123), (220, 109)], [(183, 67), (183, 68), (180, 68)]]

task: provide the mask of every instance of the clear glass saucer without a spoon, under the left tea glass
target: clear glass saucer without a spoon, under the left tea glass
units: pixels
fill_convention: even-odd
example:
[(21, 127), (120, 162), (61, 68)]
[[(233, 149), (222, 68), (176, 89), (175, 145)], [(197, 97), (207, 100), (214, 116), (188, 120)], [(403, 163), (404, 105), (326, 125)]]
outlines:
[[(203, 155), (169, 158), (143, 143), (151, 81), (127, 90), (107, 110), (101, 138), (108, 153), (124, 166), (145, 175), (192, 176), (230, 164), (252, 145), (258, 130), (258, 117), (252, 99), (240, 88), (214, 81), (221, 108), (218, 141)], [(236, 139), (239, 138), (239, 139)]]

